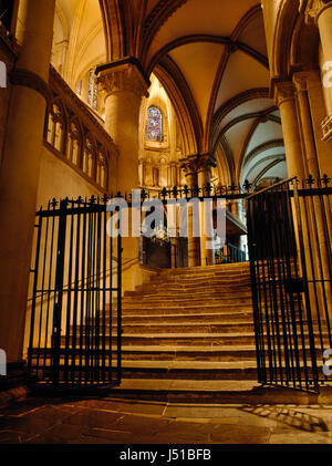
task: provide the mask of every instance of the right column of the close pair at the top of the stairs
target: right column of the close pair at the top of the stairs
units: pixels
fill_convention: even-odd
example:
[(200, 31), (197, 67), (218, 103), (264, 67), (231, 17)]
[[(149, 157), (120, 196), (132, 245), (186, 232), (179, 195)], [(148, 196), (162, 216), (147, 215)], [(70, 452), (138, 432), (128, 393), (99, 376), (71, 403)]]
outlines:
[[(215, 165), (214, 157), (210, 154), (200, 155), (198, 158), (198, 186), (205, 188), (211, 180), (211, 166)], [(204, 190), (204, 195), (206, 191)], [(209, 231), (214, 229), (214, 218), (205, 215), (204, 203), (201, 207), (201, 237), (200, 237), (200, 263), (201, 266), (214, 266), (215, 253), (212, 249), (207, 249), (207, 241), (211, 242)], [(207, 231), (208, 230), (208, 231)]]

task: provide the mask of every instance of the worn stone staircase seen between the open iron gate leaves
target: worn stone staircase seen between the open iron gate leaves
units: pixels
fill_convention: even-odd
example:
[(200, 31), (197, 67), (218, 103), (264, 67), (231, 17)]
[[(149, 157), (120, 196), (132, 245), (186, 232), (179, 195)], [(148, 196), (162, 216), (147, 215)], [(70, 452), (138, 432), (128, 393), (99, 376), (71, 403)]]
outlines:
[(112, 395), (159, 400), (180, 392), (187, 400), (197, 391), (251, 390), (249, 265), (164, 270), (126, 292), (122, 356), (123, 382)]

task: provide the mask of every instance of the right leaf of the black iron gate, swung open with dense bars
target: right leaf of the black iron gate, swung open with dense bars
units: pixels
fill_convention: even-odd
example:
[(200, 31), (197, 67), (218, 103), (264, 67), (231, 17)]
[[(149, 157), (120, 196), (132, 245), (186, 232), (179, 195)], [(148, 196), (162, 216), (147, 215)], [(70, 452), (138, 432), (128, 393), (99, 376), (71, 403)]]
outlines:
[[(308, 182), (307, 182), (308, 183)], [(319, 391), (332, 348), (329, 179), (281, 182), (248, 197), (258, 380)], [(331, 353), (330, 353), (331, 354)]]

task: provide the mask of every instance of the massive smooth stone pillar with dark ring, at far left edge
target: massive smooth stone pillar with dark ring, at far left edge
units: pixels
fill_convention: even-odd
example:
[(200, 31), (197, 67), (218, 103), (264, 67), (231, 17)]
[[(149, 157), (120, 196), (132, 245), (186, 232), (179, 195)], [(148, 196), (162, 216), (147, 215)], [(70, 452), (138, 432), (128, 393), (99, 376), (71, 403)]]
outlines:
[(0, 348), (22, 358), (55, 0), (21, 0), (0, 172)]

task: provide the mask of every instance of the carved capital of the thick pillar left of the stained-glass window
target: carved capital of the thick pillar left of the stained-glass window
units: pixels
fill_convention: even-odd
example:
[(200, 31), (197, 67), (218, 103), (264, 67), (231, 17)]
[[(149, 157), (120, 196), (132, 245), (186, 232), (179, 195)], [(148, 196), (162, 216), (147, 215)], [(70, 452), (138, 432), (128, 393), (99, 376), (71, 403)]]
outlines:
[(97, 82), (107, 95), (131, 92), (137, 97), (148, 96), (149, 81), (145, 77), (139, 62), (127, 58), (107, 63), (96, 69)]

